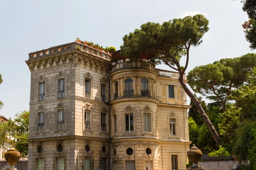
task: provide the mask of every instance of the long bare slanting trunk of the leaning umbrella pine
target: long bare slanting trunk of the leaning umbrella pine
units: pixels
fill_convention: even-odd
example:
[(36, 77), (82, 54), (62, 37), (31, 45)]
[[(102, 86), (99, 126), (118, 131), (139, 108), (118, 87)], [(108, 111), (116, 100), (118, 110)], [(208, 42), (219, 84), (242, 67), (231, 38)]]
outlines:
[(217, 131), (215, 130), (215, 127), (212, 125), (212, 122), (208, 118), (207, 114), (205, 113), (203, 107), (201, 106), (199, 100), (195, 97), (195, 95), (189, 90), (189, 88), (186, 86), (186, 83), (183, 80), (183, 74), (180, 74), (179, 77), (180, 85), (186, 92), (186, 94), (190, 97), (192, 102), (194, 103), (195, 107), (198, 109), (198, 112), (201, 114), (204, 123), (207, 125), (209, 131), (212, 133), (212, 137), (215, 140), (216, 144), (218, 146), (222, 145), (221, 138), (218, 135)]

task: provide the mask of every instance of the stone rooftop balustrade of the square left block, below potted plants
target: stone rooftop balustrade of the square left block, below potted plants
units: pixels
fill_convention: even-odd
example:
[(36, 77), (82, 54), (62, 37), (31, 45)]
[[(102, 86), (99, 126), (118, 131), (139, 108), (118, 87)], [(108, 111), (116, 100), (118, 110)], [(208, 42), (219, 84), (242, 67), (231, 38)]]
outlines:
[(29, 53), (29, 60), (30, 59), (37, 59), (40, 57), (45, 57), (45, 56), (50, 56), (52, 54), (60, 54), (60, 53), (64, 53), (64, 52), (68, 52), (68, 51), (72, 51), (72, 50), (79, 50), (79, 51), (83, 51), (87, 54), (91, 54), (93, 56), (102, 58), (102, 59), (106, 59), (108, 61), (111, 60), (111, 55), (105, 53), (104, 51), (99, 51), (95, 48), (89, 47), (87, 45), (84, 45), (82, 43), (79, 42), (70, 42), (67, 44), (63, 44), (63, 45), (57, 45), (48, 49), (44, 49), (44, 50), (40, 50), (40, 51), (35, 51), (32, 53)]

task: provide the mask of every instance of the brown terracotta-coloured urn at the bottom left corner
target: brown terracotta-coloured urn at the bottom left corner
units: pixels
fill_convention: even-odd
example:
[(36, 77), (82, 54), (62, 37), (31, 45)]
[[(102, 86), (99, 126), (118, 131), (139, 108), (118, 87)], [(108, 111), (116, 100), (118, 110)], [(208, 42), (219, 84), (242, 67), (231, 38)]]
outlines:
[(17, 161), (20, 159), (20, 152), (12, 147), (11, 149), (7, 150), (4, 157), (7, 163), (11, 166), (10, 170), (16, 170), (14, 165), (17, 164)]

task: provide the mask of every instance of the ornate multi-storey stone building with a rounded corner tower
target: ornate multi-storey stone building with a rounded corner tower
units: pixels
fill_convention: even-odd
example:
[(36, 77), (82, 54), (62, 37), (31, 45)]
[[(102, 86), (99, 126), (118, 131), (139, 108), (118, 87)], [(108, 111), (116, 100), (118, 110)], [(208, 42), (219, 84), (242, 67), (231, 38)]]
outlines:
[(71, 42), (29, 54), (28, 170), (186, 169), (178, 73)]

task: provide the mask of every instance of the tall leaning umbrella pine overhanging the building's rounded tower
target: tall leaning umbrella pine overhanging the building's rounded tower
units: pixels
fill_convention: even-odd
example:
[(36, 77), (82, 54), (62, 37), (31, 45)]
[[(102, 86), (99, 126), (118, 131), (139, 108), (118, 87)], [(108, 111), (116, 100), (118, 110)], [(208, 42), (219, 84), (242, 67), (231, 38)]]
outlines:
[[(215, 142), (221, 145), (222, 142), (215, 127), (207, 117), (200, 101), (189, 90), (183, 79), (189, 64), (189, 49), (191, 46), (201, 44), (202, 37), (209, 30), (208, 23), (209, 21), (201, 14), (170, 20), (162, 25), (148, 22), (140, 26), (141, 29), (135, 29), (133, 33), (126, 34), (120, 48), (123, 56), (138, 59), (142, 54), (148, 54), (157, 63), (163, 62), (178, 71), (180, 85), (198, 108)], [(181, 70), (180, 58), (183, 56), (186, 57), (186, 64)]]

